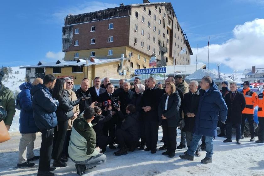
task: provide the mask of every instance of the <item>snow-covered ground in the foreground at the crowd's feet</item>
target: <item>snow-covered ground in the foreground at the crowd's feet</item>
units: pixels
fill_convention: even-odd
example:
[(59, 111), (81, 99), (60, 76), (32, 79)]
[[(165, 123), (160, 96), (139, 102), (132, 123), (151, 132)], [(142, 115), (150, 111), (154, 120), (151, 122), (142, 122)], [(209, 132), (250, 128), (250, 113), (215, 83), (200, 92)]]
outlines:
[[(179, 133), (178, 133), (179, 134)], [(162, 137), (162, 130), (159, 129), (159, 140)], [(213, 163), (202, 164), (200, 161), (205, 157), (206, 152), (201, 151), (201, 157), (195, 157), (194, 161), (182, 160), (179, 155), (186, 148), (176, 149), (176, 156), (168, 158), (161, 155), (163, 151), (151, 154), (146, 151), (135, 150), (128, 155), (114, 156), (113, 152), (107, 148), (105, 155), (107, 161), (96, 168), (86, 171), (85, 176), (188, 176), (188, 175), (264, 175), (264, 145), (249, 142), (250, 138), (242, 141), (241, 145), (235, 143), (233, 135), (232, 143), (223, 143), (224, 138), (216, 137), (214, 140)], [(257, 139), (257, 137), (256, 137)], [(41, 140), (41, 138), (37, 138)], [(19, 140), (17, 141), (19, 142)], [(179, 145), (180, 135), (177, 137)], [(14, 143), (14, 141), (13, 141)], [(31, 168), (14, 168), (17, 164), (18, 149), (1, 150), (0, 144), (0, 175), (6, 176), (33, 176), (36, 175), (39, 161), (34, 161), (35, 166)], [(163, 143), (158, 142), (158, 147)], [(35, 149), (35, 154), (39, 154), (39, 147)], [(77, 175), (75, 164), (70, 159), (67, 167), (56, 168), (55, 175)]]

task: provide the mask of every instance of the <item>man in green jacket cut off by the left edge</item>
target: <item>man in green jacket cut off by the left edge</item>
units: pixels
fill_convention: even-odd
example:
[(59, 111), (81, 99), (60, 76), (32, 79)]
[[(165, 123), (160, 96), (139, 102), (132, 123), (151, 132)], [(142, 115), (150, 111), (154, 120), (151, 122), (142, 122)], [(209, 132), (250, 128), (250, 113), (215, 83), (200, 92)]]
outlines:
[(3, 108), (7, 111), (7, 116), (4, 118), (4, 123), (7, 130), (9, 130), (16, 113), (16, 106), (13, 92), (2, 84), (3, 77), (4, 72), (0, 71), (0, 100), (2, 100), (2, 102), (0, 102), (0, 106), (3, 106)]

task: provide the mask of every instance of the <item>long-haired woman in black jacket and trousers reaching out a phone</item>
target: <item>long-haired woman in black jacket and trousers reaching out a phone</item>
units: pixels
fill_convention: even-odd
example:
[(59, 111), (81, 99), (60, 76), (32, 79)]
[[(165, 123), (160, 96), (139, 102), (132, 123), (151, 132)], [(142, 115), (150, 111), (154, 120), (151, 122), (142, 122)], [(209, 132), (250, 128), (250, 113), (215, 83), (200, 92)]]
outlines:
[(54, 167), (66, 167), (67, 159), (62, 159), (62, 151), (64, 140), (68, 128), (68, 120), (73, 117), (73, 107), (80, 104), (81, 98), (76, 101), (70, 101), (68, 93), (66, 91), (66, 82), (63, 78), (56, 80), (56, 84), (52, 91), (52, 97), (56, 98), (59, 102), (59, 106), (56, 110), (56, 116), (58, 119), (58, 126), (54, 130), (52, 159)]

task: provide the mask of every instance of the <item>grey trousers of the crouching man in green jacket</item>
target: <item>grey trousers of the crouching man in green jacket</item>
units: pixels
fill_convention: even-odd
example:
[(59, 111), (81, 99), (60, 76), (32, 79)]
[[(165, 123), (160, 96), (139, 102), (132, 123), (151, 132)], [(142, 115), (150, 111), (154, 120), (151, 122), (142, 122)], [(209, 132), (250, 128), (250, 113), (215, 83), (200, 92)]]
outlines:
[(105, 154), (99, 153), (98, 155), (91, 157), (85, 161), (75, 161), (73, 159), (71, 160), (76, 164), (85, 165), (86, 169), (90, 169), (98, 165), (99, 164), (98, 162), (104, 163), (106, 161), (106, 156)]

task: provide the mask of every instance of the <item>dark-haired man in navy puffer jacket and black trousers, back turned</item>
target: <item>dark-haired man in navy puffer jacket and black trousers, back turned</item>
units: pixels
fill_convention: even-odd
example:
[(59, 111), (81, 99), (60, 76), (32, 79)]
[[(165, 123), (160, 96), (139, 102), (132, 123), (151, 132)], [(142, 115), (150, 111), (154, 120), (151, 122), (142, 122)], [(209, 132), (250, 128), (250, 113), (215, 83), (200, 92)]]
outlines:
[(57, 116), (55, 111), (59, 105), (58, 100), (52, 98), (51, 90), (56, 83), (56, 77), (47, 74), (43, 78), (43, 84), (34, 85), (30, 94), (32, 96), (33, 118), (36, 126), (41, 131), (41, 147), (39, 168), (37, 176), (53, 176), (50, 171), (55, 167), (50, 167), (52, 141), (54, 127), (57, 126)]

